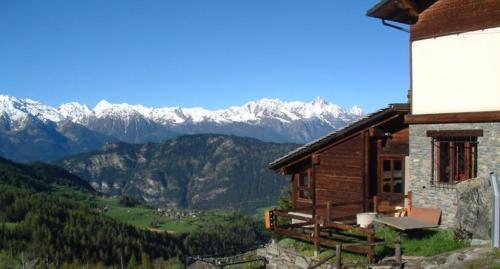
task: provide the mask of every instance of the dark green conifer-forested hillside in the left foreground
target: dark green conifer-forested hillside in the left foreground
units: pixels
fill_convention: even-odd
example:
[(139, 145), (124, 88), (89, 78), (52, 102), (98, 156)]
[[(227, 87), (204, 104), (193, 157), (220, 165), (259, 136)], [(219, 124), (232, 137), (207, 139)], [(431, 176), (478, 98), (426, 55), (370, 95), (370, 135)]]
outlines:
[(108, 217), (88, 202), (93, 197), (62, 168), (0, 159), (0, 267), (170, 268), (187, 256), (240, 253), (268, 239), (260, 222), (239, 214), (189, 234), (139, 229)]

